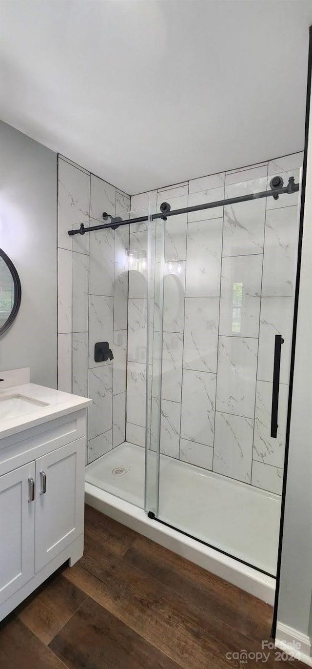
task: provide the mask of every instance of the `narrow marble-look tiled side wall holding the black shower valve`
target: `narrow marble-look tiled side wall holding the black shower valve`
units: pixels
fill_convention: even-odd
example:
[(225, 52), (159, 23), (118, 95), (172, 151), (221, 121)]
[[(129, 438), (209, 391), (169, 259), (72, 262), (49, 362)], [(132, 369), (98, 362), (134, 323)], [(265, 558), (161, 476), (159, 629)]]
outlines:
[[(129, 209), (126, 193), (59, 157), (58, 387), (94, 401), (86, 463), (125, 440), (129, 226), (67, 231), (90, 217), (102, 221), (103, 211), (126, 217)], [(114, 361), (94, 361), (97, 341), (110, 343)]]

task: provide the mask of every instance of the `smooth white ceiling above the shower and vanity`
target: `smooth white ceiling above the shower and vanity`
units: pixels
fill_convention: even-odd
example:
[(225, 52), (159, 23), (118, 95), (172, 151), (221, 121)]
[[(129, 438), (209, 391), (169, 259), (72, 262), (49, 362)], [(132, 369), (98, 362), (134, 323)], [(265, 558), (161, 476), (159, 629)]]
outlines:
[(133, 194), (303, 149), (312, 0), (2, 0), (1, 118)]

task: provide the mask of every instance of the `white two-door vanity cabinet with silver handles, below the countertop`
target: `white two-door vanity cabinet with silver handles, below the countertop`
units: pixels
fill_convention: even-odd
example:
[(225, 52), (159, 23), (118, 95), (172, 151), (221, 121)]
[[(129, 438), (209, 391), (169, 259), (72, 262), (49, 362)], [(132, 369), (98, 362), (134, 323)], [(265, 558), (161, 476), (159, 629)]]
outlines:
[(0, 440), (0, 620), (82, 557), (85, 461), (86, 408)]

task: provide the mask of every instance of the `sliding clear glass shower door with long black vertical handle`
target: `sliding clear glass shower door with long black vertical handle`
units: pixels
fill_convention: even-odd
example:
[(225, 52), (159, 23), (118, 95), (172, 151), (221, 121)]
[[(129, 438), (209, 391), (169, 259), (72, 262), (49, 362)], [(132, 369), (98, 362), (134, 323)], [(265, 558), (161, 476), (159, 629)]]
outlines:
[[(158, 193), (158, 210), (162, 200), (173, 210), (266, 191), (272, 176), (265, 163), (195, 179)], [(285, 171), (285, 184), (289, 176)], [(164, 244), (157, 517), (270, 575), (279, 540), (297, 221), (297, 193), (255, 199), (168, 217)], [(276, 439), (275, 335), (284, 339)]]

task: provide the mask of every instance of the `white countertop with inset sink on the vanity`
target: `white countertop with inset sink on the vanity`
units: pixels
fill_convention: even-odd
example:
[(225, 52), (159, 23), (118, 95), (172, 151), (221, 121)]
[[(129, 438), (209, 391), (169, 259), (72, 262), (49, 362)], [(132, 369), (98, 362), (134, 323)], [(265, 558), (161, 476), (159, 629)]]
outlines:
[(0, 439), (22, 432), (23, 429), (46, 423), (53, 418), (59, 418), (67, 413), (84, 409), (92, 404), (92, 399), (87, 397), (63, 393), (36, 383), (23, 383), (23, 385), (15, 385), (0, 390), (0, 400), (10, 395), (23, 395), (44, 402), (45, 405), (36, 405), (29, 413), (23, 413), (21, 416), (2, 419), (0, 401)]

